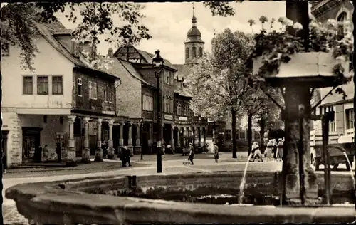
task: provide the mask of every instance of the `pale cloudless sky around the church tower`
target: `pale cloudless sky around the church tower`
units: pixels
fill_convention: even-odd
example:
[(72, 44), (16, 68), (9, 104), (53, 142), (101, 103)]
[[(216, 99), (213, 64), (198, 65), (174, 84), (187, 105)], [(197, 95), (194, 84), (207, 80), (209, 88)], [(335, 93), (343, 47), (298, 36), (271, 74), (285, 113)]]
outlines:
[[(152, 39), (143, 40), (136, 47), (149, 53), (154, 53), (159, 49), (161, 56), (167, 58), (171, 63), (184, 63), (183, 42), (187, 39), (187, 32), (192, 27), (192, 2), (140, 4), (145, 5), (142, 14), (146, 17), (142, 19), (142, 23), (149, 28)], [(285, 1), (244, 1), (231, 3), (231, 6), (235, 9), (235, 15), (223, 17), (212, 16), (210, 9), (204, 7), (202, 2), (194, 3), (197, 28), (201, 32), (201, 38), (205, 41), (204, 51), (210, 51), (214, 33), (221, 33), (225, 28), (230, 28), (231, 31), (251, 33), (249, 19), (256, 21), (256, 25), (253, 26), (253, 31), (256, 32), (261, 29), (258, 21), (260, 16), (276, 20), (281, 16), (286, 16)], [(66, 28), (75, 28), (75, 24), (68, 22), (64, 14), (56, 16)], [(115, 23), (115, 18), (113, 20)], [(110, 46), (105, 41), (100, 41), (98, 51), (100, 54), (106, 55), (110, 47), (114, 49), (114, 52), (117, 49), (117, 46)]]

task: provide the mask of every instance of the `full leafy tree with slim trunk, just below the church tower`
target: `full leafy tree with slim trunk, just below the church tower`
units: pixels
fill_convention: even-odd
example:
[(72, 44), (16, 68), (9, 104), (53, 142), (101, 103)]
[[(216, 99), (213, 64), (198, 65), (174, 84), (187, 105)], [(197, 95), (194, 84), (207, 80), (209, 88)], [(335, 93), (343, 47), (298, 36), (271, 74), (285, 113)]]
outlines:
[(211, 41), (211, 54), (205, 53), (187, 75), (187, 85), (193, 95), (191, 108), (203, 115), (231, 112), (233, 157), (236, 158), (236, 117), (243, 104), (251, 73), (245, 63), (252, 51), (253, 37), (230, 29)]

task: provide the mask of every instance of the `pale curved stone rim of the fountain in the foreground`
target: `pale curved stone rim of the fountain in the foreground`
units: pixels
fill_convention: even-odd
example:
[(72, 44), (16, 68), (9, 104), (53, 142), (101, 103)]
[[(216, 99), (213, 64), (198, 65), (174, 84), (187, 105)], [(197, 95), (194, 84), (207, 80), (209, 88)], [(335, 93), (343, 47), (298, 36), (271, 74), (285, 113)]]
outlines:
[[(239, 174), (240, 172), (233, 172), (234, 174)], [(221, 174), (219, 172), (218, 174)], [(226, 172), (226, 174), (231, 174), (231, 172)], [(241, 174), (241, 173), (240, 173)], [(273, 172), (264, 172), (264, 174), (273, 174)], [(153, 177), (174, 177), (176, 174), (159, 174), (153, 175)], [(192, 175), (192, 176), (209, 176), (211, 173), (197, 174), (197, 173), (189, 173), (184, 175)], [(152, 176), (137, 176), (137, 177), (152, 177)], [(342, 175), (342, 177), (349, 177)], [(51, 212), (63, 212), (66, 211), (68, 213), (73, 213), (73, 209), (77, 209), (78, 207), (83, 211), (88, 211), (87, 214), (98, 214), (98, 211), (108, 210), (110, 211), (122, 211), (125, 214), (124, 218), (127, 221), (137, 221), (135, 217), (137, 214), (133, 216), (133, 211), (141, 211), (142, 213), (147, 213), (147, 216), (150, 218), (148, 221), (150, 222), (177, 222), (177, 218), (174, 220), (170, 220), (172, 218), (165, 218), (164, 216), (160, 218), (161, 220), (156, 221), (157, 217), (150, 215), (152, 214), (152, 210), (156, 211), (157, 214), (171, 214), (171, 211), (174, 210), (180, 215), (187, 214), (187, 218), (178, 218), (181, 221), (179, 223), (185, 222), (194, 222), (196, 220), (192, 219), (197, 217), (199, 219), (206, 219), (204, 216), (208, 216), (210, 219), (213, 219), (212, 222), (219, 222), (224, 218), (224, 221), (236, 221), (236, 219), (242, 219), (245, 222), (251, 221), (253, 217), (251, 217), (251, 210), (256, 211), (256, 207), (263, 206), (244, 206), (244, 205), (234, 205), (234, 206), (226, 206), (219, 204), (202, 204), (202, 203), (188, 203), (188, 202), (173, 202), (166, 200), (156, 200), (156, 199), (145, 199), (138, 197), (114, 197), (110, 195), (103, 194), (88, 194), (85, 192), (78, 191), (80, 189), (80, 185), (77, 184), (90, 184), (93, 182), (110, 182), (112, 180), (117, 179), (125, 179), (124, 176), (106, 176), (106, 177), (88, 177), (81, 179), (73, 179), (73, 180), (65, 180), (65, 181), (55, 181), (55, 182), (38, 182), (31, 184), (18, 184), (16, 186), (10, 187), (6, 189), (6, 198), (14, 199), (16, 201), (16, 205), (19, 207), (28, 207), (26, 210), (33, 211), (48, 211)], [(65, 185), (64, 183), (72, 184), (74, 188), (68, 188), (61, 185)], [(117, 199), (121, 199), (117, 201)], [(22, 203), (22, 204), (21, 204)], [(53, 207), (54, 205), (57, 205)], [(167, 207), (169, 205), (169, 207)], [(197, 207), (199, 205), (199, 207)], [(236, 213), (236, 207), (239, 207), (239, 213)], [(269, 206), (268, 212), (259, 211), (257, 214), (255, 213), (256, 219), (258, 221), (262, 221), (263, 217), (264, 222), (281, 222), (281, 221), (289, 221), (289, 222), (299, 222), (300, 219), (303, 222), (318, 222), (320, 219), (328, 219), (328, 221), (338, 222), (337, 218), (343, 216), (344, 220), (347, 218), (350, 219), (352, 216), (355, 216), (355, 209), (350, 206), (322, 206), (325, 210), (320, 210), (320, 207), (290, 207), (290, 206)], [(310, 210), (310, 208), (313, 208)], [(113, 210), (111, 210), (113, 209)], [(292, 210), (291, 210), (292, 209)], [(20, 211), (20, 210), (19, 210)], [(91, 211), (91, 212), (90, 212)], [(337, 216), (333, 216), (337, 211)], [(106, 211), (105, 211), (106, 213)], [(209, 214), (217, 216), (216, 219), (209, 216)], [(270, 216), (273, 215), (273, 216)], [(190, 216), (189, 216), (190, 215)], [(352, 215), (352, 216), (351, 216)], [(112, 216), (112, 215), (111, 215)], [(267, 216), (267, 217), (266, 217)], [(331, 217), (330, 217), (331, 216)], [(184, 217), (184, 216), (181, 216)], [(288, 219), (286, 220), (286, 218)], [(335, 219), (333, 219), (335, 217)], [(112, 218), (112, 217), (111, 217)], [(115, 217), (116, 218), (116, 217)], [(353, 218), (353, 217), (352, 217)], [(167, 220), (168, 219), (168, 220)], [(189, 220), (192, 219), (192, 220)], [(246, 220), (247, 219), (247, 220)], [(249, 220), (248, 220), (249, 219)], [(142, 221), (141, 221), (142, 222)]]

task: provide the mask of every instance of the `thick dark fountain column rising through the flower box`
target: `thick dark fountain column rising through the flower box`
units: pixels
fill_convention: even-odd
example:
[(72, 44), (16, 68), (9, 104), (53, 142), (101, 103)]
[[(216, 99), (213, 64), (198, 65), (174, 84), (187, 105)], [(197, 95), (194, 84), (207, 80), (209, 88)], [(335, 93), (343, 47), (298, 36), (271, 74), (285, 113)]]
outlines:
[[(303, 36), (309, 33), (308, 2), (286, 1), (286, 16), (303, 25)], [(309, 38), (305, 38), (308, 47)], [(293, 62), (290, 62), (293, 63)], [(310, 86), (286, 85), (283, 113), (286, 129), (286, 154), (282, 166), (282, 204), (286, 200), (305, 204), (318, 198), (318, 186), (310, 167)]]

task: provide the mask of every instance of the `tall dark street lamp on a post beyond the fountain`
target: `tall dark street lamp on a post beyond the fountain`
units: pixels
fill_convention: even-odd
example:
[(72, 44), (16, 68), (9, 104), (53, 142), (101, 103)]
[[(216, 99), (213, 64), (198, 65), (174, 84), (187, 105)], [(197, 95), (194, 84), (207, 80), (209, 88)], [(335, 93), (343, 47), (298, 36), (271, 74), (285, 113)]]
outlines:
[(163, 70), (163, 58), (159, 55), (159, 50), (155, 51), (155, 56), (152, 58), (153, 69), (155, 70), (155, 76), (157, 79), (157, 173), (162, 172), (162, 121), (161, 121), (161, 95), (159, 91), (159, 77)]

